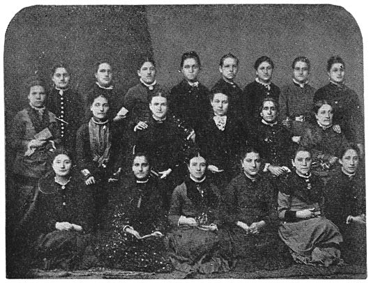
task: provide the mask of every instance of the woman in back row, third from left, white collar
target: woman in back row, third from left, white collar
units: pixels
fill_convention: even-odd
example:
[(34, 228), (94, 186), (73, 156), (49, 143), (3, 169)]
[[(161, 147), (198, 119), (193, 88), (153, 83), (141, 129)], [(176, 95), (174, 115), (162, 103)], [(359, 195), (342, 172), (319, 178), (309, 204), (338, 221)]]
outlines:
[(151, 117), (148, 109), (149, 97), (161, 88), (156, 81), (156, 63), (153, 59), (146, 58), (139, 61), (137, 75), (139, 84), (129, 89), (123, 99), (123, 107), (130, 116), (131, 130), (139, 121), (149, 121)]

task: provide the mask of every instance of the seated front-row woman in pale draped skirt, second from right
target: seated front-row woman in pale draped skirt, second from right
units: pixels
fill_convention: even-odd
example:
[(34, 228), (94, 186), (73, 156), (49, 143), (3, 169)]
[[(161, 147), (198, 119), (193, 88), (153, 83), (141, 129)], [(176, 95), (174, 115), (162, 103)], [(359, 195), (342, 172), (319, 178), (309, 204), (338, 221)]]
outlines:
[(338, 227), (324, 217), (324, 184), (310, 173), (312, 156), (299, 147), (292, 158), (294, 172), (278, 192), (278, 233), (297, 263), (330, 266), (342, 263)]

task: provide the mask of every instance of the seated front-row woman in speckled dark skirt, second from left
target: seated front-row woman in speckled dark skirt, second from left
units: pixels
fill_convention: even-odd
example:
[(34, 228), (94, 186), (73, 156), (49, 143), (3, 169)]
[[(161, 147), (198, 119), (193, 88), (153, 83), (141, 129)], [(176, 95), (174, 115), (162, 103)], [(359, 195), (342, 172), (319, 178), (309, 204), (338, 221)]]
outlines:
[[(105, 235), (96, 252), (104, 266), (121, 270), (171, 272), (162, 238), (167, 228), (158, 182), (144, 153), (132, 160), (132, 175), (109, 196)], [(144, 237), (144, 238), (143, 238)]]

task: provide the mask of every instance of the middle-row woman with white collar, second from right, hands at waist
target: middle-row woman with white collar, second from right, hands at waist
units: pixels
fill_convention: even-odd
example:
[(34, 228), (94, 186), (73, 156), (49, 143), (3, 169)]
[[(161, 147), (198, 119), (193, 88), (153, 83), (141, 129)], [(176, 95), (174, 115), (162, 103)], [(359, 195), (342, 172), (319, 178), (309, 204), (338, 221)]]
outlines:
[(289, 171), (289, 156), (294, 146), (292, 134), (278, 121), (278, 102), (273, 98), (264, 98), (260, 116), (262, 120), (252, 131), (251, 140), (264, 159), (264, 171), (280, 176)]

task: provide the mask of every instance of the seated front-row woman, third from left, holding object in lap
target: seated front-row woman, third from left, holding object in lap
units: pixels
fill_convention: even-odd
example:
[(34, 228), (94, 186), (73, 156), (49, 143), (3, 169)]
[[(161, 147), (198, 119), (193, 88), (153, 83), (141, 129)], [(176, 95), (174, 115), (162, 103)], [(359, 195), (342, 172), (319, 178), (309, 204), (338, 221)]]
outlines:
[(207, 163), (199, 153), (189, 156), (189, 176), (172, 195), (169, 220), (171, 259), (177, 270), (186, 273), (214, 273), (229, 270), (220, 254), (218, 237), (218, 188), (206, 177)]

